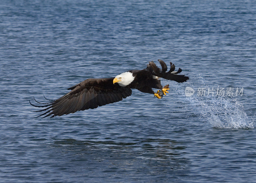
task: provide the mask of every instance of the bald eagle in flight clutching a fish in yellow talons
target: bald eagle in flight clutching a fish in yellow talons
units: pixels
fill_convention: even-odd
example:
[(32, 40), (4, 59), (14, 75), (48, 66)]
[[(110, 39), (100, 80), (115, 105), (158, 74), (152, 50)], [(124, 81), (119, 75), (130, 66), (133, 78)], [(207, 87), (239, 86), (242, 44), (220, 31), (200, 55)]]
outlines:
[[(178, 75), (182, 71), (180, 68), (177, 72), (174, 72), (175, 66), (172, 62), (170, 62), (171, 69), (166, 72), (167, 66), (164, 61), (158, 61), (160, 62), (162, 69), (159, 69), (156, 64), (151, 61), (147, 65), (148, 67), (143, 70), (129, 70), (111, 78), (86, 79), (81, 83), (68, 88), (68, 90), (71, 91), (66, 95), (56, 100), (50, 100), (48, 103), (37, 102), (34, 98), (37, 103), (46, 105), (34, 105), (30, 100), (29, 103), (35, 107), (46, 107), (43, 110), (35, 112), (46, 111), (39, 116), (45, 115), (44, 117), (47, 117), (52, 115), (52, 118), (54, 116), (94, 109), (98, 106), (121, 101), (132, 95), (131, 89), (154, 94), (158, 99), (161, 99), (163, 95), (169, 93), (167, 91), (169, 90), (169, 85), (163, 87), (159, 78), (182, 83), (187, 81), (188, 77), (185, 75)], [(155, 93), (152, 88), (160, 90)]]

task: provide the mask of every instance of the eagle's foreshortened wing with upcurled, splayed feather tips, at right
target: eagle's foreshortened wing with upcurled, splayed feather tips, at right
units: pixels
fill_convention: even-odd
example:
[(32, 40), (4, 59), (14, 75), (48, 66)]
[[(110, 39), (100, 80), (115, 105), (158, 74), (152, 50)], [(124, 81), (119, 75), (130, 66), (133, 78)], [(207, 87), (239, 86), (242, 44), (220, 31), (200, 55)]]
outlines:
[(157, 77), (162, 77), (164, 79), (168, 79), (168, 80), (173, 80), (176, 81), (178, 83), (183, 83), (185, 81), (187, 81), (189, 79), (189, 77), (185, 76), (185, 75), (179, 75), (179, 73), (182, 71), (180, 68), (177, 72), (174, 72), (175, 70), (175, 65), (172, 64), (172, 62), (170, 62), (171, 64), (171, 69), (167, 71), (167, 66), (164, 63), (164, 61), (162, 60), (158, 60), (158, 62), (160, 62), (162, 69), (159, 69), (156, 64), (151, 61), (148, 64), (148, 67), (145, 69), (145, 71), (150, 72), (152, 75), (157, 76)]

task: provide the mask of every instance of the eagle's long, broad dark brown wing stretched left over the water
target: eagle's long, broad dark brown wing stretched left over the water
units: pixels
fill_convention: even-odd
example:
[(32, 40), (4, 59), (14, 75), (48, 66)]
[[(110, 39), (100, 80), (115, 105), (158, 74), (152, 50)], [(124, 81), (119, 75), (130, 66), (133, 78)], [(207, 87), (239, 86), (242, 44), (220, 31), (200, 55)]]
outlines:
[(119, 86), (117, 83), (113, 84), (113, 79), (114, 77), (86, 79), (83, 82), (68, 88), (72, 91), (66, 95), (49, 103), (44, 103), (47, 104), (44, 106), (37, 106), (31, 104), (30, 101), (29, 102), (35, 107), (46, 107), (43, 110), (36, 111), (46, 111), (39, 116), (46, 114), (44, 117), (50, 115), (52, 115), (51, 117), (54, 117), (61, 116), (63, 114), (75, 113), (76, 111), (94, 109), (98, 106), (118, 102), (132, 95), (132, 90), (130, 88)]

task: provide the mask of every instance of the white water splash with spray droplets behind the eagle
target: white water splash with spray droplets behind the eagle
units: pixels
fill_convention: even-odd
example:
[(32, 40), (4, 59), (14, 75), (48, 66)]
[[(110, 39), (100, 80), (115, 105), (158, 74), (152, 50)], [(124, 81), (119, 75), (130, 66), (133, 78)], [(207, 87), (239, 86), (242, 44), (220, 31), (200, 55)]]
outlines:
[[(208, 87), (209, 81), (200, 74), (194, 77), (191, 88)], [(184, 88), (180, 94), (185, 95)], [(254, 128), (255, 123), (248, 118), (244, 106), (238, 98), (218, 97), (212, 95), (186, 97), (187, 106), (202, 121), (209, 122), (215, 128)]]

